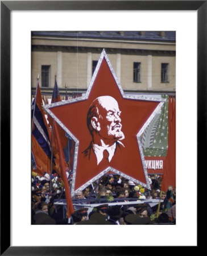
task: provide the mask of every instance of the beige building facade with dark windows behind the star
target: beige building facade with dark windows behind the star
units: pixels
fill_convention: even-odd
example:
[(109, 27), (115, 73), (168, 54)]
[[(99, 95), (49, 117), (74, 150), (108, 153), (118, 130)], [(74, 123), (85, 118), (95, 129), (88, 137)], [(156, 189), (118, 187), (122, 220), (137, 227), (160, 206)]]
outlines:
[(55, 76), (60, 93), (88, 88), (104, 48), (125, 92), (176, 90), (175, 31), (82, 31), (31, 34), (31, 86), (36, 78), (51, 94)]

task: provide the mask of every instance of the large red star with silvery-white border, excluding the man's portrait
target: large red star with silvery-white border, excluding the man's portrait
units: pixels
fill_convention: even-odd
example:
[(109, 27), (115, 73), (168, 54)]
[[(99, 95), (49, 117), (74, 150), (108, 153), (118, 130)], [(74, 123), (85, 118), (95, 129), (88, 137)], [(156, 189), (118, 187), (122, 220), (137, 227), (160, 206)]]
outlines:
[[(121, 141), (124, 147), (115, 151), (110, 162), (97, 164), (96, 157), (89, 159), (82, 152), (92, 141), (86, 123), (87, 113), (94, 99), (100, 96), (111, 96), (118, 102), (125, 139)], [(85, 96), (44, 106), (76, 142), (72, 195), (108, 172), (150, 189), (140, 136), (163, 103), (162, 100), (125, 95), (103, 49)]]

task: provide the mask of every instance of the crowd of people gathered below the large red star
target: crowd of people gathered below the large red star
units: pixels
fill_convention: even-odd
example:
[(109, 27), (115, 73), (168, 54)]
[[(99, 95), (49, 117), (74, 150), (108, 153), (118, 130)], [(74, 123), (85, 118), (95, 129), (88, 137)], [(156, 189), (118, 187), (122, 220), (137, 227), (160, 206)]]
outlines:
[[(70, 175), (67, 173), (68, 181)], [(31, 223), (49, 225), (160, 225), (176, 224), (176, 191), (160, 191), (162, 176), (149, 175), (151, 189), (118, 175), (105, 175), (72, 198), (74, 212), (56, 204), (65, 199), (63, 180), (55, 172), (32, 172)], [(156, 201), (156, 204), (149, 202)], [(113, 204), (111, 204), (113, 203)], [(82, 205), (96, 207), (82, 207)], [(154, 206), (152, 206), (154, 205)]]

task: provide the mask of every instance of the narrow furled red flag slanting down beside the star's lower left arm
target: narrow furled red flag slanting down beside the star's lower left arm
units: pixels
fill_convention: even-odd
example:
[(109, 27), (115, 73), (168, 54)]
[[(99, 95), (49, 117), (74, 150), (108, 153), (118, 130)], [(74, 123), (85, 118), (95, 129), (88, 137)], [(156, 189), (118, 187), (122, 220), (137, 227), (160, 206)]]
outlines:
[(69, 183), (68, 183), (68, 179), (67, 179), (67, 175), (66, 175), (63, 148), (61, 147), (60, 136), (59, 136), (59, 132), (58, 132), (55, 120), (54, 120), (54, 130), (55, 130), (56, 144), (57, 144), (57, 148), (59, 150), (59, 158), (60, 158), (59, 175), (64, 182), (65, 198), (67, 201), (68, 218), (70, 218), (71, 214), (74, 212), (74, 209), (73, 209), (73, 203), (72, 203), (72, 198), (71, 198), (71, 191), (69, 189)]

